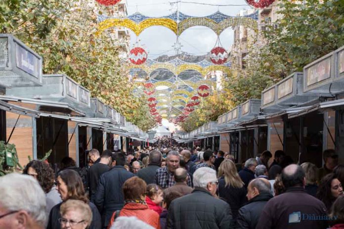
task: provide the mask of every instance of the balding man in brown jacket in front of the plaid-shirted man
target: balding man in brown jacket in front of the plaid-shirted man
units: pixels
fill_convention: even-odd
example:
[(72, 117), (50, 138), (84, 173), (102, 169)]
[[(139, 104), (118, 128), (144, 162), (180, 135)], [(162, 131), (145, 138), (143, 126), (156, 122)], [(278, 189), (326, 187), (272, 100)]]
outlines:
[(182, 195), (190, 194), (193, 191), (193, 189), (187, 186), (187, 179), (187, 171), (183, 168), (177, 168), (174, 172), (174, 180), (176, 183), (170, 188), (164, 190), (164, 194), (167, 195), (171, 191), (177, 191)]

